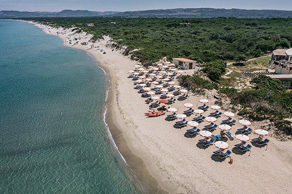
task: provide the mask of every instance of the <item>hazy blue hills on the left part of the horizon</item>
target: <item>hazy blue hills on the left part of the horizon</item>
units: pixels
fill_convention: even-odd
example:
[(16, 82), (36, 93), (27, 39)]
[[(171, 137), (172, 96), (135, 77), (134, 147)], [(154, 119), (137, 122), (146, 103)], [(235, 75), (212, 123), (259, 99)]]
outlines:
[(61, 12), (18, 12), (0, 11), (0, 18), (20, 18), (20, 17), (92, 17), (108, 16), (118, 12), (95, 12), (88, 10), (63, 10)]

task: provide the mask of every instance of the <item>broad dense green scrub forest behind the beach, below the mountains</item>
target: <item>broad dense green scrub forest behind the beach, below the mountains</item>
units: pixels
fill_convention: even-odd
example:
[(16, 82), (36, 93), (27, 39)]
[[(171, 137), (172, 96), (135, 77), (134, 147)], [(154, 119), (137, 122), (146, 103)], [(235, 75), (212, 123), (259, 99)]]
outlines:
[[(134, 55), (142, 62), (166, 56), (198, 62), (240, 61), (264, 55), (276, 47), (289, 48), (292, 19), (161, 19), (161, 18), (38, 18), (37, 21), (65, 28), (76, 27), (94, 34), (110, 35), (120, 45), (140, 49)], [(115, 22), (111, 23), (111, 22)], [(94, 23), (86, 27), (85, 23)], [(189, 23), (186, 25), (185, 23)]]

